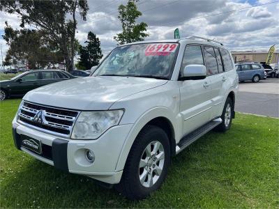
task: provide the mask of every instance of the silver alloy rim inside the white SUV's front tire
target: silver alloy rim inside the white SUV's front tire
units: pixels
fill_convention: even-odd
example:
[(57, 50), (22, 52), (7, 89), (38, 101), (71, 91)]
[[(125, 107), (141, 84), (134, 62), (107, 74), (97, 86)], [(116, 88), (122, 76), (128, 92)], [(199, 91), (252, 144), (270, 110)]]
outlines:
[(144, 187), (152, 187), (163, 171), (165, 150), (159, 141), (149, 143), (142, 153), (139, 164), (140, 183)]

